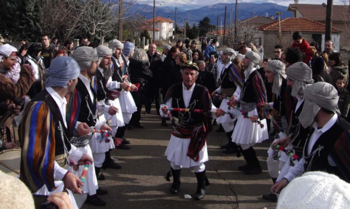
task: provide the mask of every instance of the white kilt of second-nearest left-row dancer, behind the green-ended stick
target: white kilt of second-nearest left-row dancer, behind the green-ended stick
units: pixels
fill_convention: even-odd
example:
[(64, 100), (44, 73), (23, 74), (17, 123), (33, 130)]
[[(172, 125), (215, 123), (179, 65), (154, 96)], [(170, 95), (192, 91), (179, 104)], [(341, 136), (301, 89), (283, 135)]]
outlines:
[[(85, 155), (92, 157), (92, 151), (89, 144), (87, 144), (85, 147), (77, 147), (77, 150), (82, 152)], [(75, 174), (79, 178), (80, 176), (82, 176), (83, 170), (84, 170), (84, 165), (79, 165), (78, 171), (74, 171), (72, 167), (69, 167), (69, 171)], [(89, 169), (87, 169), (86, 179), (84, 182), (82, 193), (88, 193), (89, 195), (94, 195), (96, 194), (97, 189), (98, 189), (98, 185), (97, 185), (95, 167), (94, 167), (94, 164), (92, 164), (89, 166)]]

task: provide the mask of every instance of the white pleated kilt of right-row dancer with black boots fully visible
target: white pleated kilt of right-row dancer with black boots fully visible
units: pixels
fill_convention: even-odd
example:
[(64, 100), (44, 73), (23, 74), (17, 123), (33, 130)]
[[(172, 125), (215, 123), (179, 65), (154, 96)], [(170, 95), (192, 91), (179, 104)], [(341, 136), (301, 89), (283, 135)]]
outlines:
[[(255, 110), (248, 112), (250, 115), (254, 113)], [(252, 122), (249, 118), (244, 118), (240, 114), (236, 127), (233, 129), (232, 142), (236, 144), (254, 144), (268, 139), (266, 119), (261, 120), (261, 124), (264, 124), (263, 128), (258, 123)]]

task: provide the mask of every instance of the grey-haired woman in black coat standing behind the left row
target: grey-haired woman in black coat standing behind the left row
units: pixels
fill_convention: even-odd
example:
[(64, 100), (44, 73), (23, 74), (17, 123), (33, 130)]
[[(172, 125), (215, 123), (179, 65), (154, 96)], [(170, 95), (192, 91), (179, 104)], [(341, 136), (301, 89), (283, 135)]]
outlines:
[(131, 92), (137, 106), (137, 112), (132, 114), (128, 129), (133, 126), (143, 128), (140, 124), (142, 103), (148, 97), (148, 80), (152, 78), (152, 71), (149, 69), (148, 56), (145, 50), (139, 48), (135, 50), (133, 57), (129, 60), (130, 81), (139, 86), (137, 91)]

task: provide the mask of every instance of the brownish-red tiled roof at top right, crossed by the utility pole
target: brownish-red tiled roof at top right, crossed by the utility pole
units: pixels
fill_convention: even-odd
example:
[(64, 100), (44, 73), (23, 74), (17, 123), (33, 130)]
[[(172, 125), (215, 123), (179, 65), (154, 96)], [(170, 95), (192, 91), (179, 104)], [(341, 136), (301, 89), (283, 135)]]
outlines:
[[(299, 10), (303, 17), (315, 21), (326, 20), (326, 8), (314, 4), (290, 4), (287, 11)], [(350, 13), (343, 5), (333, 5), (332, 21), (343, 22), (350, 19)]]

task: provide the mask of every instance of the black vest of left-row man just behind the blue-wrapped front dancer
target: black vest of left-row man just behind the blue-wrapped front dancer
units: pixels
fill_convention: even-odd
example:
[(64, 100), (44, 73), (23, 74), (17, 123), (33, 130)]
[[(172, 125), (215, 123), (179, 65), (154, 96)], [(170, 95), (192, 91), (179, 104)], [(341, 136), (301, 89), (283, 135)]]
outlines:
[[(95, 126), (96, 124), (96, 119), (93, 118), (93, 115), (96, 115), (97, 111), (97, 106), (96, 106), (96, 92), (95, 90), (91, 87), (90, 89), (93, 93), (94, 98), (93, 103), (91, 102), (90, 94), (87, 91), (85, 84), (83, 83), (80, 78), (78, 78), (78, 83), (76, 86), (76, 89), (78, 90), (80, 96), (81, 96), (81, 104), (80, 104), (80, 112), (79, 112), (79, 117), (78, 121), (79, 122), (85, 122), (88, 126)], [(87, 107), (89, 106), (89, 108)], [(91, 110), (92, 114), (90, 113), (89, 109)]]

